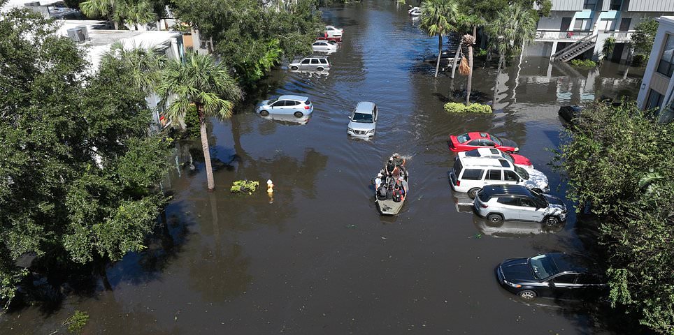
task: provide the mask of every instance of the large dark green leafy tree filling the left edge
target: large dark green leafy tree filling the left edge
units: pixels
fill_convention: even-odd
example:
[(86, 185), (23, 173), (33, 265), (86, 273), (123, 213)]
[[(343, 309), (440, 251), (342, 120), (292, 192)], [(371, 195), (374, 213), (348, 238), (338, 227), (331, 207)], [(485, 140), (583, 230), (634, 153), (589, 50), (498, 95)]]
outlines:
[(2, 299), (14, 295), (24, 253), (59, 264), (140, 250), (164, 202), (150, 189), (168, 143), (148, 137), (129, 69), (108, 62), (83, 75), (80, 50), (56, 29), (27, 10), (0, 19)]

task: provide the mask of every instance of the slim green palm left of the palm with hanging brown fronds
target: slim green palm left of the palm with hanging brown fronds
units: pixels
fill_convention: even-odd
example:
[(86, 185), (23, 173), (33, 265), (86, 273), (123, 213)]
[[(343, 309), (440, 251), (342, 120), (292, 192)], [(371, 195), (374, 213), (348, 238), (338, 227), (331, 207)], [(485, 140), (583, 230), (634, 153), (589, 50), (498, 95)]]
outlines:
[(436, 63), (436, 77), (438, 77), (440, 55), (443, 53), (443, 35), (454, 29), (458, 5), (453, 0), (424, 0), (421, 12), (419, 27), (424, 29), (429, 36), (438, 36), (438, 61)]

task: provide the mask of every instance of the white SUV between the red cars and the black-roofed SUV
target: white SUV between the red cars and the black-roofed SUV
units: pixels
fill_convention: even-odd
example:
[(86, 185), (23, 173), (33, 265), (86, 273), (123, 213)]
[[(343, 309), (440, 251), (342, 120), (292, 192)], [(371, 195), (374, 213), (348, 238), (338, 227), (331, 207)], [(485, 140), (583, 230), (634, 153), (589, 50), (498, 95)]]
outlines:
[(512, 165), (505, 158), (459, 157), (450, 170), (450, 185), (455, 192), (466, 192), (475, 198), (480, 188), (487, 185), (523, 185), (538, 193), (550, 192), (547, 177), (534, 169)]

